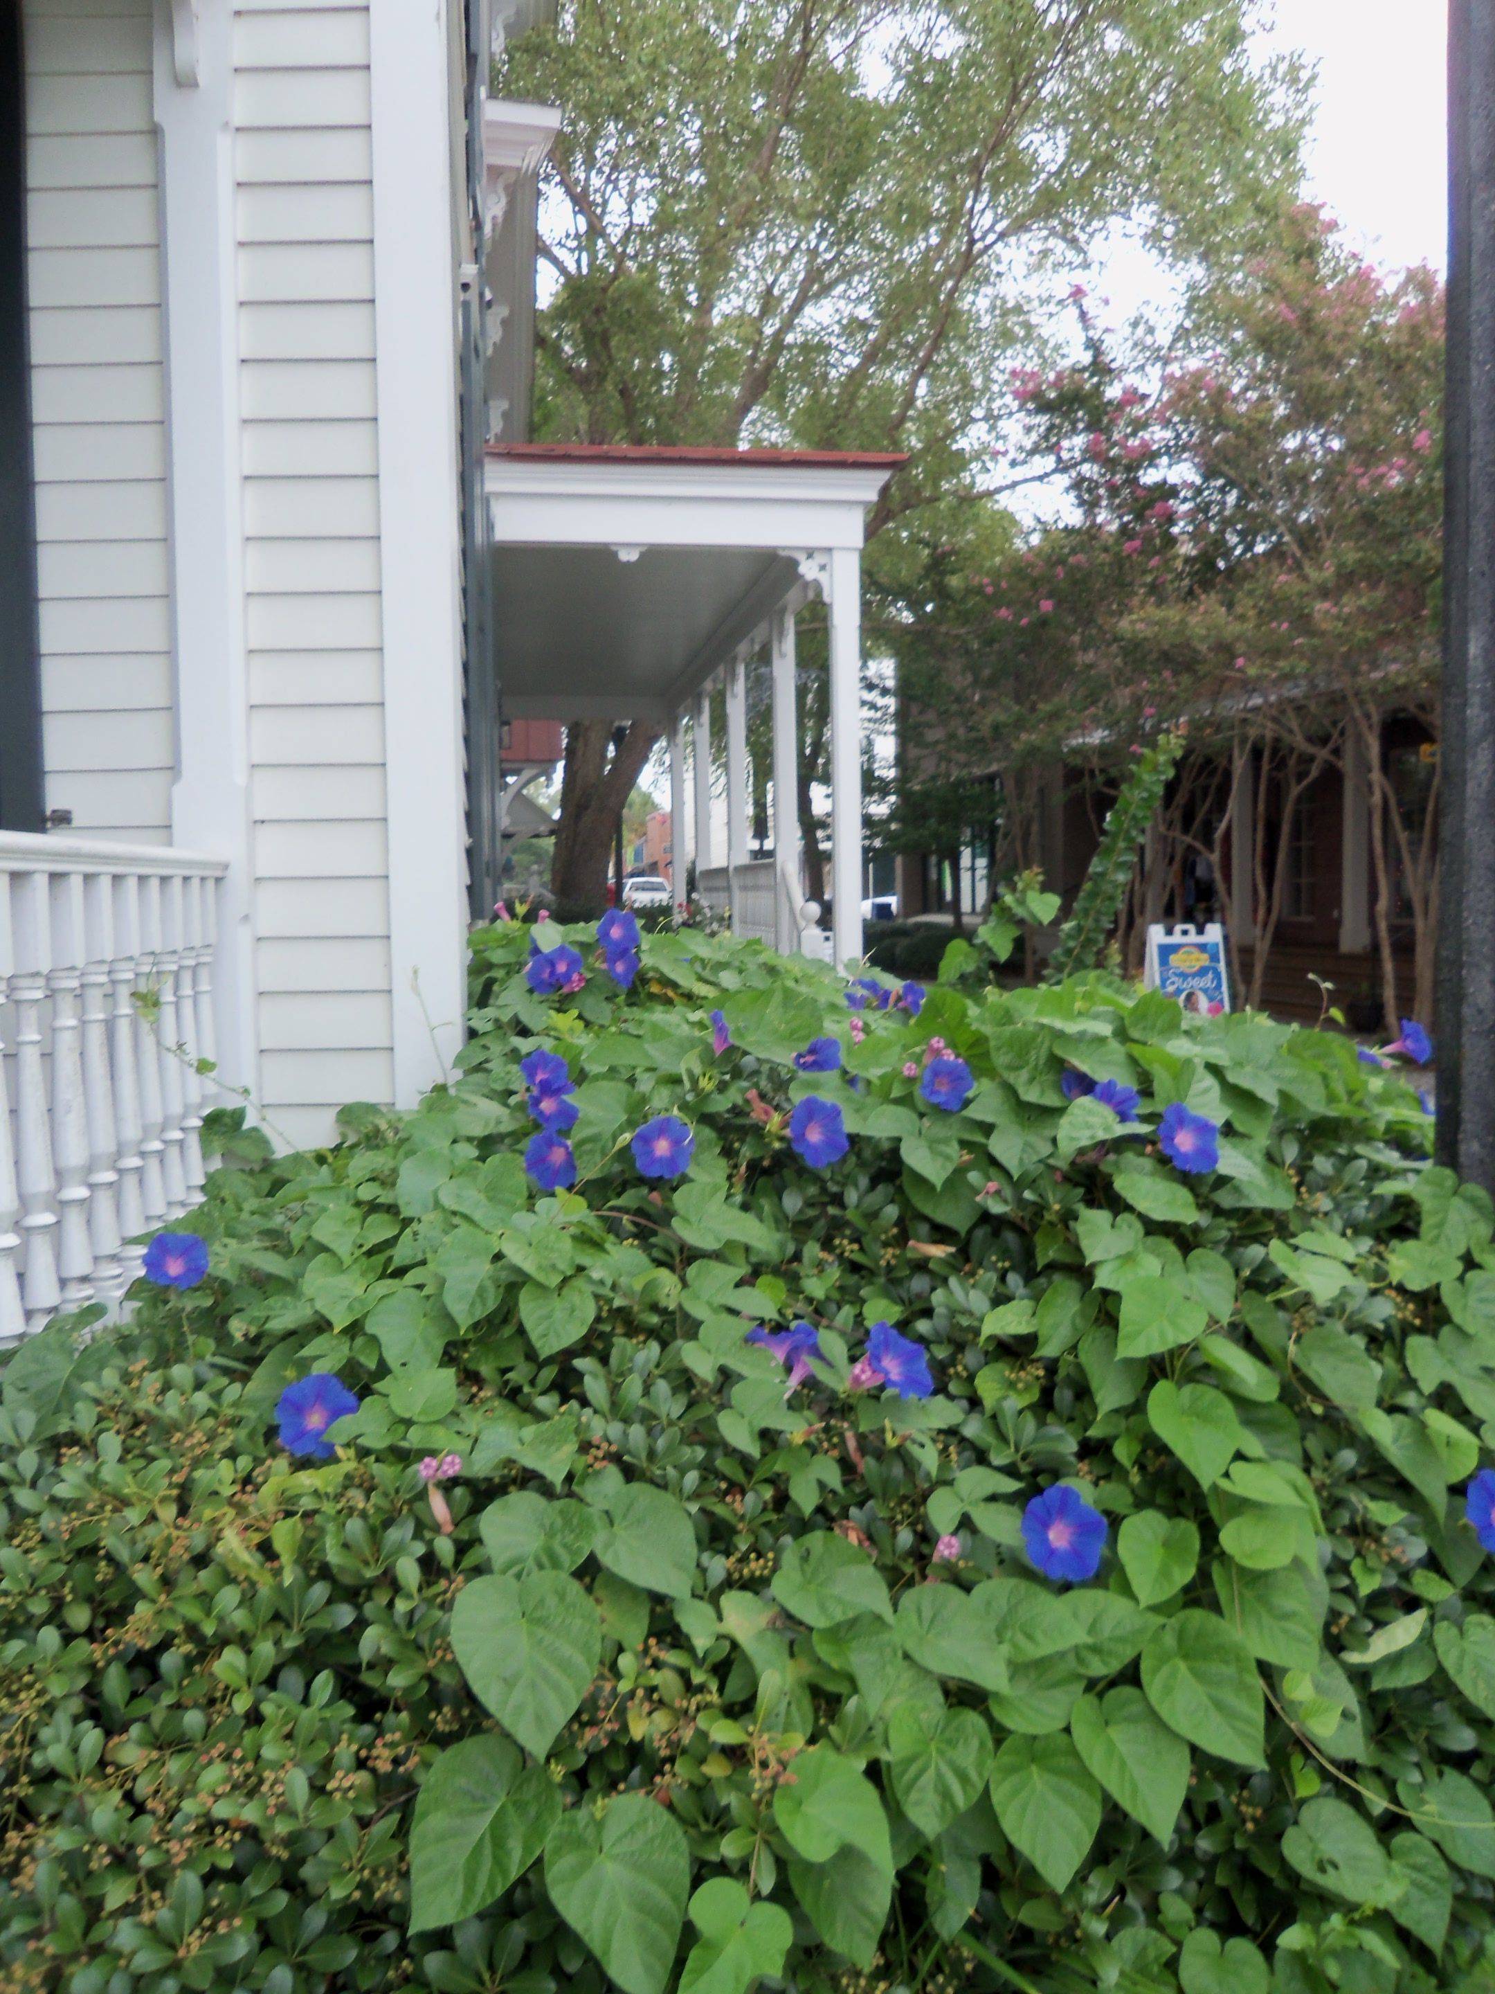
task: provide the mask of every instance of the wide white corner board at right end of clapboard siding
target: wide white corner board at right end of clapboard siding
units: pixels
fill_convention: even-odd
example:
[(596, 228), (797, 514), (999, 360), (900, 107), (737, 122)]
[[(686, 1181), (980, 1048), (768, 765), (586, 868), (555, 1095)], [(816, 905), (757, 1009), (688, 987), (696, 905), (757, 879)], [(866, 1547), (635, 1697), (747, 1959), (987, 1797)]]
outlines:
[(371, 0), (375, 403), (395, 1105), (466, 1011), (448, 6)]

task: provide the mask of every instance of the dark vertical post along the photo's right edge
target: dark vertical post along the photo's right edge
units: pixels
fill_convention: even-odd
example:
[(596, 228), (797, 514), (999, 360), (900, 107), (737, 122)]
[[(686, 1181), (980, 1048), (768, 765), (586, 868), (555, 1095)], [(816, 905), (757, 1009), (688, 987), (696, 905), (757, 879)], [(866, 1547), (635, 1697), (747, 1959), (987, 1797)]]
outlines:
[(1495, 1190), (1495, 8), (1449, 0), (1437, 1157)]

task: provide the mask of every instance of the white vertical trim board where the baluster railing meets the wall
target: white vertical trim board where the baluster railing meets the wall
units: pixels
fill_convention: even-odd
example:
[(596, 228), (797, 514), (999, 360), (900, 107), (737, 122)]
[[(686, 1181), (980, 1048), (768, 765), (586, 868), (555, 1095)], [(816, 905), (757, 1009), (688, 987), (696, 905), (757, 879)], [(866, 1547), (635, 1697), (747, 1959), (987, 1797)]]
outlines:
[[(215, 967), (223, 1079), (259, 1099), (239, 445), (233, 8), (155, 8), (161, 303), (171, 431), (177, 780), (171, 837), (227, 859)], [(209, 889), (211, 891), (211, 889)]]

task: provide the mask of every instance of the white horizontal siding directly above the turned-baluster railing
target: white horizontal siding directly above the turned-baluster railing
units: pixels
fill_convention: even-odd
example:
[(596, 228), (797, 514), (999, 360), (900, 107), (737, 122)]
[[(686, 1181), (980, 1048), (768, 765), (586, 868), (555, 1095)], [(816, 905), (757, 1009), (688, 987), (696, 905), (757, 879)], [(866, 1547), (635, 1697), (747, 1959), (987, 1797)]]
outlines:
[(169, 562), (150, 0), (24, 0), (46, 804), (171, 826)]

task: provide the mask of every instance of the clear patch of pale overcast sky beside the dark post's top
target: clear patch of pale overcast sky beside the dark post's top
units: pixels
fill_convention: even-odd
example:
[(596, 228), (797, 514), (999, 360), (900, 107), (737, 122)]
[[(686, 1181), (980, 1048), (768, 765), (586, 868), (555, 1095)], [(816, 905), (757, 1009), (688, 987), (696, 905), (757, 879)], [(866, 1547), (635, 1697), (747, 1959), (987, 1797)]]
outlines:
[(1441, 0), (1278, 0), (1268, 50), (1318, 62), (1316, 199), (1379, 263), (1445, 265)]

